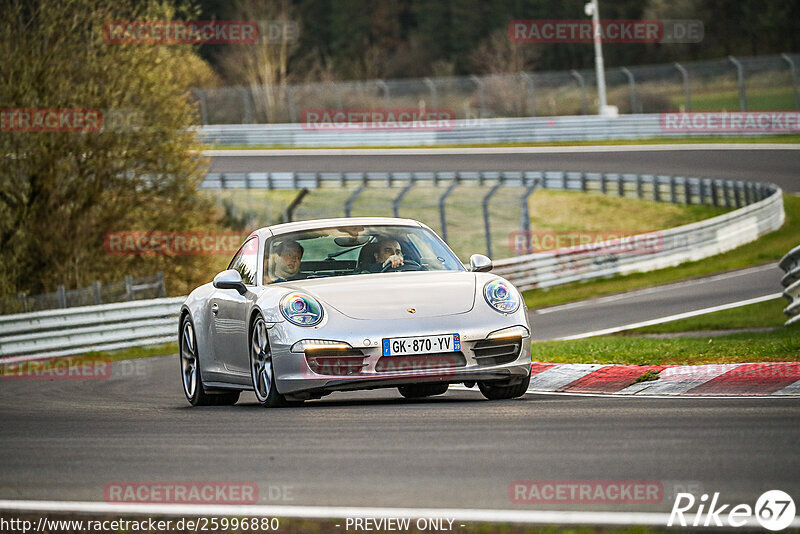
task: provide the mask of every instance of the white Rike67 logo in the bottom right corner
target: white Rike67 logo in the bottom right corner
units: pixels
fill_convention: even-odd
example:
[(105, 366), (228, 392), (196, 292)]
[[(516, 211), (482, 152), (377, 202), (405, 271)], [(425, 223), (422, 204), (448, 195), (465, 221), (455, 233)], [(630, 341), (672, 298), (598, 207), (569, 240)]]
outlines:
[(691, 493), (678, 493), (667, 526), (738, 528), (760, 525), (767, 530), (779, 531), (791, 526), (794, 518), (794, 500), (781, 490), (762, 493), (754, 507), (723, 503), (719, 492), (714, 493), (710, 501), (705, 493), (699, 499)]

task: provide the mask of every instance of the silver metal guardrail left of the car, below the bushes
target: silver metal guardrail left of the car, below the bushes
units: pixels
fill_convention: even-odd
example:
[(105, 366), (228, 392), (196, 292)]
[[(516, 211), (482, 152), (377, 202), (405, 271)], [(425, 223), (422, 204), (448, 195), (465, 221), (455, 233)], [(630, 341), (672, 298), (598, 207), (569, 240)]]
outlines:
[(0, 316), (0, 357), (50, 358), (175, 341), (185, 297)]

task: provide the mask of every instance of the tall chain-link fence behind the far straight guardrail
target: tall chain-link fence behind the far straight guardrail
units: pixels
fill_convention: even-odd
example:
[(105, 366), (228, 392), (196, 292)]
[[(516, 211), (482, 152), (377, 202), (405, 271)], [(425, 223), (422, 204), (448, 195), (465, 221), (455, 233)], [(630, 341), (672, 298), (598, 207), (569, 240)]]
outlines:
[[(606, 69), (620, 113), (800, 109), (800, 55)], [(447, 109), (458, 119), (597, 112), (594, 70), (195, 89), (203, 124), (297, 123), (309, 109)]]

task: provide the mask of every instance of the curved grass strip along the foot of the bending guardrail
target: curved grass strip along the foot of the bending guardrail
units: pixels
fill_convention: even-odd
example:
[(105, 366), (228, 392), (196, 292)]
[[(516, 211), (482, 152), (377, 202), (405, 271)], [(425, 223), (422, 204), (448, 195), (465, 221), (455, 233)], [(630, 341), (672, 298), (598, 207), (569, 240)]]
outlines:
[(524, 292), (525, 302), (529, 308), (543, 308), (778, 261), (797, 246), (800, 236), (800, 197), (785, 195), (783, 206), (786, 222), (781, 228), (734, 250), (658, 271), (532, 289)]

